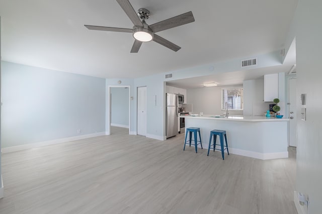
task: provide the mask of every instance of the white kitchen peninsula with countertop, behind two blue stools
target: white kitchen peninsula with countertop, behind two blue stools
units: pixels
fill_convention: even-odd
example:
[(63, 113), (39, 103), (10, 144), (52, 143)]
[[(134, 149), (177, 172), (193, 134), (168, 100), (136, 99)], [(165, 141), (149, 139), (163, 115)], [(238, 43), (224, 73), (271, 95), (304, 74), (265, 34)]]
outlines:
[[(180, 116), (187, 127), (199, 127), (202, 147), (208, 148), (210, 131), (226, 130), (229, 153), (258, 159), (287, 158), (287, 121), (265, 116)], [(217, 139), (218, 142), (219, 138)], [(209, 154), (210, 155), (210, 154)]]

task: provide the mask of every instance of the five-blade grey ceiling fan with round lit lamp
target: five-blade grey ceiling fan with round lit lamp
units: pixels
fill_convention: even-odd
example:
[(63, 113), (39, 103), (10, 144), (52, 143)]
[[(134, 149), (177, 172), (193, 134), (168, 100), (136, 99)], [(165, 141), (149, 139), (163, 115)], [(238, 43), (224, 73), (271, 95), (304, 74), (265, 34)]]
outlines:
[(130, 18), (134, 24), (133, 29), (127, 28), (111, 28), (111, 27), (101, 27), (101, 26), (92, 26), (85, 25), (89, 30), (96, 31), (113, 31), (113, 32), (126, 32), (132, 33), (135, 39), (134, 44), (131, 49), (131, 53), (137, 53), (143, 42), (154, 41), (160, 45), (163, 45), (175, 52), (179, 51), (181, 47), (173, 44), (172, 42), (157, 36), (154, 33), (164, 31), (167, 29), (175, 28), (181, 25), (185, 25), (195, 21), (195, 18), (192, 15), (192, 12), (187, 12), (179, 16), (155, 23), (153, 25), (147, 25), (145, 20), (150, 16), (150, 12), (144, 8), (138, 10), (138, 13), (134, 11), (132, 5), (128, 0), (116, 0), (121, 6), (126, 15)]

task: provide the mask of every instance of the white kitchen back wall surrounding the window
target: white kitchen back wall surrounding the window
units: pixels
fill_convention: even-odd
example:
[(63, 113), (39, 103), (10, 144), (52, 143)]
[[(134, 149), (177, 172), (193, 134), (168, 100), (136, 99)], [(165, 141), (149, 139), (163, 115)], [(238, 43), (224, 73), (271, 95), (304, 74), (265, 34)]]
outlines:
[[(187, 89), (187, 103), (192, 104), (194, 113), (221, 115), (225, 112), (221, 111), (221, 88), (229, 87), (235, 86)], [(229, 110), (229, 115), (243, 115), (243, 111)]]

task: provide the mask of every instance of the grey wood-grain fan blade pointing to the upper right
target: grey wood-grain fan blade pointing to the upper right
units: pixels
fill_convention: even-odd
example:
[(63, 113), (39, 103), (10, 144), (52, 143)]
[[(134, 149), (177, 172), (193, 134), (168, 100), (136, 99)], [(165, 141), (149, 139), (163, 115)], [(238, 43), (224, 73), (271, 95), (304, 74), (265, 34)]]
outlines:
[(181, 14), (179, 16), (150, 25), (149, 28), (153, 31), (153, 33), (156, 33), (159, 31), (164, 31), (170, 28), (185, 25), (194, 21), (195, 18), (193, 17), (192, 12), (190, 11), (185, 14)]

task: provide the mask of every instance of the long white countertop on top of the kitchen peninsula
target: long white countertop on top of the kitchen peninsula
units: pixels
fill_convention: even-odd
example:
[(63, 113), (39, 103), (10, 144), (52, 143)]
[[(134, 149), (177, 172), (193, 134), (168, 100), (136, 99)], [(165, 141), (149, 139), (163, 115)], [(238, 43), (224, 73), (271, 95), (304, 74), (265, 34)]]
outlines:
[(210, 119), (210, 120), (230, 120), (230, 121), (245, 121), (245, 122), (270, 122), (270, 121), (289, 121), (288, 118), (276, 118), (265, 116), (229, 116), (225, 117), (215, 117), (215, 115), (203, 115), (203, 116), (192, 116), (192, 115), (180, 115), (183, 118), (194, 118), (194, 119)]

